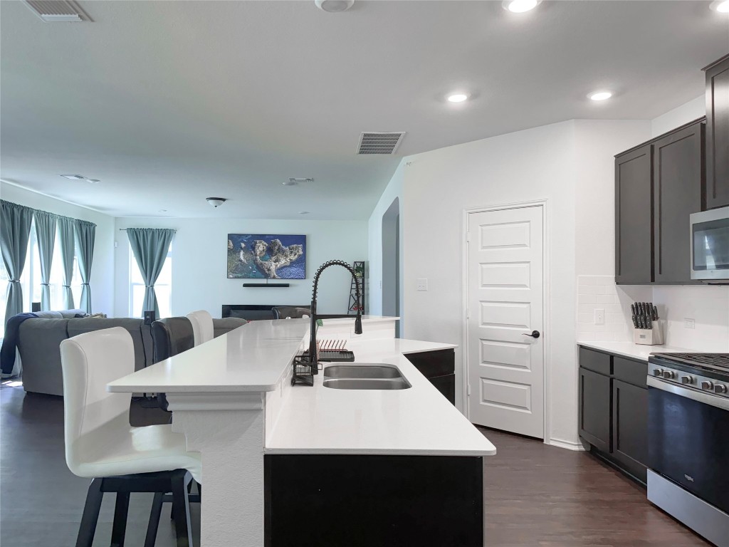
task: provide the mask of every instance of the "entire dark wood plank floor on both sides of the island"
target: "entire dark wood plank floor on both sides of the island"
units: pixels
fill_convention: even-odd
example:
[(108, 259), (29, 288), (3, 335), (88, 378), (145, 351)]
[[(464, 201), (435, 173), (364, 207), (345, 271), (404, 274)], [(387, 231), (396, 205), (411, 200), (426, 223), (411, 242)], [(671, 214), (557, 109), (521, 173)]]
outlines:
[[(166, 420), (139, 404), (130, 412), (135, 425)], [(709, 545), (653, 508), (643, 489), (588, 454), (483, 432), (499, 450), (487, 462), (487, 546)], [(0, 389), (0, 545), (74, 545), (88, 484), (66, 468), (61, 397)], [(94, 546), (108, 546), (111, 537), (114, 497), (105, 498)], [(144, 543), (151, 503), (149, 494), (132, 494), (126, 545)], [(175, 545), (169, 511), (165, 504), (158, 547)], [(197, 504), (192, 513), (198, 542)]]

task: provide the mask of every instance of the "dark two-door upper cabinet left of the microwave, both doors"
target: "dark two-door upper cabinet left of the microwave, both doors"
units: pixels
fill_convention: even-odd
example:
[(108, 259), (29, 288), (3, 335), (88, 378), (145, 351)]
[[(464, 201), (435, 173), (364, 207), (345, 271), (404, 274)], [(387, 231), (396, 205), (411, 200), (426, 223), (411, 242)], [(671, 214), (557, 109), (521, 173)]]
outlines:
[(615, 156), (615, 282), (690, 284), (689, 216), (705, 201), (705, 120)]

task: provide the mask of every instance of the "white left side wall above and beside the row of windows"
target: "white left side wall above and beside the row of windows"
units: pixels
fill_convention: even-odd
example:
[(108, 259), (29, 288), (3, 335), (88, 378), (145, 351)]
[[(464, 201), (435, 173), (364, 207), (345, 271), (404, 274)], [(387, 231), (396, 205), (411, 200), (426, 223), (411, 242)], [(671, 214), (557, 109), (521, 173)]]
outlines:
[[(59, 182), (59, 184), (64, 183)], [(69, 182), (69, 184), (80, 183)], [(94, 312), (103, 312), (111, 317), (114, 314), (114, 217), (5, 182), (0, 182), (0, 196), (5, 201), (33, 209), (95, 223), (96, 239), (90, 280), (91, 308)], [(78, 302), (76, 306), (79, 306)]]

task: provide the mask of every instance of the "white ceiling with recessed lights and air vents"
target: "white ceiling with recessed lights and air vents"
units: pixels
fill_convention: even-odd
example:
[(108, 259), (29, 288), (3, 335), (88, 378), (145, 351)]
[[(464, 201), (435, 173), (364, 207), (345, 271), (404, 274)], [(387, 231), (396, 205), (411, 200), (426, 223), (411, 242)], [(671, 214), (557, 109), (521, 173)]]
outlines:
[[(0, 176), (117, 217), (367, 219), (403, 155), (656, 117), (729, 51), (709, 1), (79, 3), (93, 23), (0, 1)], [(588, 101), (599, 88), (616, 95)], [(443, 101), (456, 89), (475, 98)], [(397, 156), (357, 156), (362, 131), (408, 133)]]

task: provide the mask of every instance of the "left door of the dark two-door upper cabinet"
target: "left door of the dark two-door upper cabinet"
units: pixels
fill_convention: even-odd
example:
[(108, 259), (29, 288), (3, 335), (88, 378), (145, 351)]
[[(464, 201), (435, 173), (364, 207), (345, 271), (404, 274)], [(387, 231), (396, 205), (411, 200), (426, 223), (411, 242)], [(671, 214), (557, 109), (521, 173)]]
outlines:
[[(653, 281), (652, 146), (615, 158), (615, 282)], [(688, 259), (687, 259), (688, 262)]]

